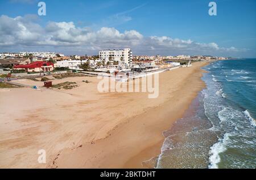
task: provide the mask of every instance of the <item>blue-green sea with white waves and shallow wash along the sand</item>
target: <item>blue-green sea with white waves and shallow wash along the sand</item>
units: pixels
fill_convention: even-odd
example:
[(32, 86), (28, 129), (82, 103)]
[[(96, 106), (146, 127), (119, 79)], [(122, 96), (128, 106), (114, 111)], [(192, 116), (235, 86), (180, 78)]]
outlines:
[(256, 168), (256, 59), (202, 69), (207, 87), (163, 132), (156, 168)]

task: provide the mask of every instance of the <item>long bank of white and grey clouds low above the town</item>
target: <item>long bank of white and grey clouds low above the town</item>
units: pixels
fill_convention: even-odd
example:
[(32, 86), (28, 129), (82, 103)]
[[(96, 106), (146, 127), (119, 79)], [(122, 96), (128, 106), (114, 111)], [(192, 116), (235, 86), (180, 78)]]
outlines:
[(138, 31), (119, 32), (115, 28), (102, 27), (92, 31), (86, 27), (76, 27), (73, 22), (49, 22), (46, 27), (36, 23), (35, 15), (0, 16), (0, 47), (14, 49), (57, 48), (59, 51), (97, 53), (100, 49), (131, 47), (137, 53), (214, 53), (240, 52), (245, 49), (219, 47), (216, 43), (198, 43), (167, 36), (144, 37)]

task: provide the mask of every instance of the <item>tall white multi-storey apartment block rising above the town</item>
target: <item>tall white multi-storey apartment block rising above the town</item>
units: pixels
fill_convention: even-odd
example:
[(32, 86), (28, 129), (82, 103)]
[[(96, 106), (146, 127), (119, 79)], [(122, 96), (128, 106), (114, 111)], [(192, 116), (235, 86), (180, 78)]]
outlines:
[(100, 60), (105, 60), (108, 62), (110, 58), (112, 58), (113, 61), (119, 61), (122, 65), (129, 65), (131, 64), (131, 60), (133, 57), (133, 53), (131, 52), (130, 48), (125, 49), (113, 49), (113, 50), (104, 50), (98, 52), (98, 55), (100, 56)]

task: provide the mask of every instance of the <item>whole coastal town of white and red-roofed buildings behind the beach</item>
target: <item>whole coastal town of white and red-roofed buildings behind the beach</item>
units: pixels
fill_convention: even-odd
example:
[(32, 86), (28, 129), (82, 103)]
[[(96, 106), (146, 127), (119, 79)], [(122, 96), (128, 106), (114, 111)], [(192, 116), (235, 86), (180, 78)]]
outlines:
[(65, 56), (55, 52), (0, 53), (0, 81), (42, 77), (51, 74), (84, 73), (116, 76), (118, 73), (139, 74), (177, 67), (189, 67), (193, 62), (226, 60), (214, 56), (133, 56), (130, 48), (99, 51), (94, 56)]

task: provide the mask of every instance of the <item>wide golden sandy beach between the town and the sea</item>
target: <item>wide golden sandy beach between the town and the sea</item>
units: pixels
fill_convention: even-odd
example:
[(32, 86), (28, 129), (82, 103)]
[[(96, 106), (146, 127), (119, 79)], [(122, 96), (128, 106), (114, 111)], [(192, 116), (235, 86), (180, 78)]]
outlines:
[[(162, 132), (205, 87), (200, 68), (206, 64), (160, 73), (156, 99), (99, 93), (97, 77), (52, 79), (53, 85), (76, 82), (70, 90), (0, 89), (0, 168), (142, 168), (160, 154)], [(38, 163), (39, 149), (46, 150), (46, 164)]]

